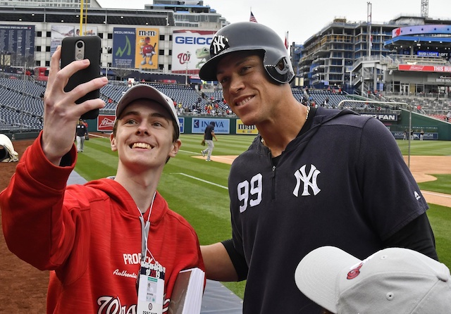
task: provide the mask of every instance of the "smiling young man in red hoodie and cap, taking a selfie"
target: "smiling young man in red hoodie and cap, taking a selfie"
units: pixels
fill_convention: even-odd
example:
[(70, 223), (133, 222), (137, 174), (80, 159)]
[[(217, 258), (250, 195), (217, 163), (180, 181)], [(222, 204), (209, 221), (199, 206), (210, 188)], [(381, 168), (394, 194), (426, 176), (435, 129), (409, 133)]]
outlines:
[(116, 176), (66, 186), (77, 158), (75, 125), (82, 113), (104, 107), (101, 99), (75, 100), (107, 80), (64, 92), (89, 61), (60, 70), (60, 56), (58, 48), (51, 57), (44, 130), (0, 194), (8, 248), (51, 270), (47, 313), (166, 312), (178, 272), (204, 269), (197, 234), (156, 191), (181, 145), (173, 102), (149, 85), (128, 89), (110, 139)]

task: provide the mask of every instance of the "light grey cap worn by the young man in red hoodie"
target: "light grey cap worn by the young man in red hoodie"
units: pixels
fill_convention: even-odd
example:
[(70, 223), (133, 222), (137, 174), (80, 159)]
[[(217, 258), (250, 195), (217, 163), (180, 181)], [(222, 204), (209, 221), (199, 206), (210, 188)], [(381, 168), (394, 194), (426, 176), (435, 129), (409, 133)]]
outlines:
[(180, 137), (180, 121), (178, 120), (177, 111), (175, 111), (174, 101), (160, 92), (158, 89), (148, 85), (148, 84), (137, 84), (130, 87), (125, 94), (122, 95), (116, 107), (116, 119), (121, 116), (122, 111), (127, 107), (132, 101), (136, 99), (151, 99), (160, 103), (161, 106), (166, 108), (166, 110), (171, 114), (171, 118), (177, 123), (178, 133), (177, 138)]

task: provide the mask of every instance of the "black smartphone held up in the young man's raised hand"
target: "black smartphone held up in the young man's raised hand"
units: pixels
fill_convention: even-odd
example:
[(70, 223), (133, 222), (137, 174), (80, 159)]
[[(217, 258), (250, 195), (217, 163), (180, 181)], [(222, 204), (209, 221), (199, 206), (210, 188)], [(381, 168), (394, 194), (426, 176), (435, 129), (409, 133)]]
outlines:
[[(95, 77), (100, 77), (100, 56), (101, 39), (99, 36), (78, 36), (65, 37), (61, 42), (61, 68), (75, 60), (89, 59), (90, 64), (87, 68), (74, 73), (66, 87), (65, 92), (69, 92), (79, 84), (89, 82)], [(75, 103), (82, 103), (87, 99), (96, 99), (100, 96), (100, 90), (96, 89), (85, 96), (80, 97)], [(94, 109), (84, 113), (80, 118), (95, 119), (99, 115), (99, 109)]]

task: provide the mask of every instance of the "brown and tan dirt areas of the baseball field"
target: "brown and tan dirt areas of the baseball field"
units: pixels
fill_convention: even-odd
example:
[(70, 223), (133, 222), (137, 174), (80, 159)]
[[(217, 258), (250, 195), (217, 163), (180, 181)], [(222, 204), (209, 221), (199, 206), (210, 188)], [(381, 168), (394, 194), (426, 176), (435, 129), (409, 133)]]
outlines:
[[(13, 142), (14, 149), (22, 156), (32, 140)], [(202, 158), (200, 156), (196, 158)], [(221, 163), (232, 163), (235, 156), (211, 156)], [(451, 157), (412, 157), (411, 170), (418, 182), (435, 180), (426, 175), (451, 174)], [(0, 163), (0, 190), (3, 190), (13, 175), (17, 163)], [(451, 196), (423, 191), (428, 203), (451, 207)], [(1, 213), (0, 213), (1, 217)], [(49, 272), (39, 271), (11, 253), (0, 230), (0, 313), (42, 314), (45, 313)]]

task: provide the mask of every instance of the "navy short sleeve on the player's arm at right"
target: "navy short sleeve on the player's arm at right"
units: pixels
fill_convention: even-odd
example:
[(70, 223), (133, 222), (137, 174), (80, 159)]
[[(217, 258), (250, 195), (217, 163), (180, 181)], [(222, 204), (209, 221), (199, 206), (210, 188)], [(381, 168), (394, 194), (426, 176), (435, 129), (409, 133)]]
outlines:
[(359, 157), (364, 208), (385, 240), (425, 213), (428, 204), (395, 138), (380, 121), (366, 123)]

